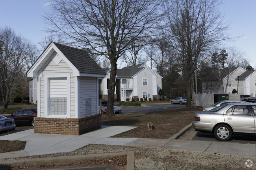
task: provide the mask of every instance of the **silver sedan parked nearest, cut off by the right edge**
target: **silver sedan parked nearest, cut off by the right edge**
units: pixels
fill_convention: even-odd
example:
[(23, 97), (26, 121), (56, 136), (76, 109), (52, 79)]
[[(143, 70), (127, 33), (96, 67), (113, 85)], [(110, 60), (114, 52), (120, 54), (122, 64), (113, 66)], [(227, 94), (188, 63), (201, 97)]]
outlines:
[(211, 132), (219, 141), (232, 134), (255, 134), (255, 103), (228, 103), (208, 112), (196, 112), (192, 126), (196, 131)]

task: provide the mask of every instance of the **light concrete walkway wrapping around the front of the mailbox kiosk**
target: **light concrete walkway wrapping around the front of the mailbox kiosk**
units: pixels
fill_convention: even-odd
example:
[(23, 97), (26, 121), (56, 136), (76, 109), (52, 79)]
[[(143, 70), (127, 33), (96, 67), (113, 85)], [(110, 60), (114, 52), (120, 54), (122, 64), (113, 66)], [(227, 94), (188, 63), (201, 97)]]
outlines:
[[(71, 152), (88, 144), (100, 141), (104, 138), (117, 135), (136, 127), (131, 126), (102, 126), (98, 130), (83, 135), (58, 135), (34, 133), (33, 129), (4, 135), (0, 140), (27, 141), (24, 152), (28, 155), (54, 154), (58, 152)], [(134, 139), (135, 140), (135, 139)], [(122, 143), (129, 143), (131, 139)], [(104, 144), (104, 143), (103, 143)], [(7, 156), (6, 156), (7, 157)]]

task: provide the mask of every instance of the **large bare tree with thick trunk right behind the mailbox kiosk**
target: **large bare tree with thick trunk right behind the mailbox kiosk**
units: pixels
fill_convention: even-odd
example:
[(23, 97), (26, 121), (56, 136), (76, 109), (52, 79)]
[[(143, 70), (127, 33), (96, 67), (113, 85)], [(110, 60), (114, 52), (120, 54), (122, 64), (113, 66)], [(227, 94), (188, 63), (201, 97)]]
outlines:
[(160, 0), (54, 0), (45, 14), (51, 32), (64, 33), (70, 41), (90, 46), (111, 64), (106, 115), (113, 116), (117, 60), (130, 44), (152, 36), (158, 22)]

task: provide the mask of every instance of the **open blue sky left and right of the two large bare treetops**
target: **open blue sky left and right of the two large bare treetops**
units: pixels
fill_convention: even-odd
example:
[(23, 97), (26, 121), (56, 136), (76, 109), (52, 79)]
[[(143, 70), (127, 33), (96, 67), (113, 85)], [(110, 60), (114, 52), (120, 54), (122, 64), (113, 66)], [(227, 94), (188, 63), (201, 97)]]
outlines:
[[(47, 12), (48, 0), (0, 0), (0, 27), (10, 26), (15, 33), (37, 44), (45, 33), (43, 11)], [(256, 1), (223, 0), (220, 11), (225, 21), (230, 21), (228, 33), (232, 37), (242, 36), (228, 46), (245, 52), (250, 66), (256, 69)]]

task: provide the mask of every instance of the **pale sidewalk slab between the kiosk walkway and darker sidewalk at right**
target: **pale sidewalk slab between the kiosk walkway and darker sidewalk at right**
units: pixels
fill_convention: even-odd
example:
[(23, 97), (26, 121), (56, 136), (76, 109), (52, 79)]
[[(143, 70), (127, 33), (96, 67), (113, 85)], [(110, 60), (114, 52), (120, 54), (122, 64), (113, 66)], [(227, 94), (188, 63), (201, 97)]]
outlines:
[(104, 138), (101, 139), (99, 141), (96, 141), (92, 144), (109, 144), (109, 145), (126, 145), (128, 143), (131, 143), (132, 141), (135, 141), (139, 138), (135, 138), (135, 137), (118, 137), (118, 138)]

